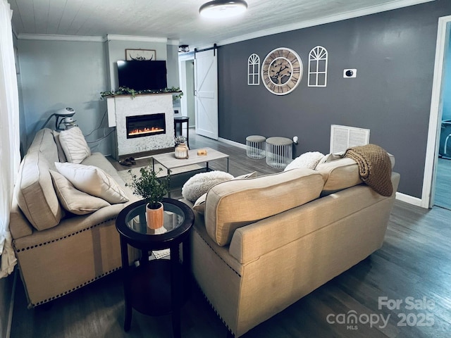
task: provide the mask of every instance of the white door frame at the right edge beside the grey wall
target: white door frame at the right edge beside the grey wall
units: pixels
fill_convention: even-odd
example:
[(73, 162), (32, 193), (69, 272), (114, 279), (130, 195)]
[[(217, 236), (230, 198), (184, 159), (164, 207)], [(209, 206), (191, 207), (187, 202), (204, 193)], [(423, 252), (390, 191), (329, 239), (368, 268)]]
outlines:
[(426, 163), (424, 165), (423, 190), (420, 206), (432, 208), (437, 173), (438, 144), (442, 119), (442, 82), (445, 64), (445, 47), (447, 46), (448, 23), (451, 15), (438, 19), (437, 44), (435, 47), (435, 64), (432, 84), (431, 113), (429, 115), (428, 142), (426, 146)]

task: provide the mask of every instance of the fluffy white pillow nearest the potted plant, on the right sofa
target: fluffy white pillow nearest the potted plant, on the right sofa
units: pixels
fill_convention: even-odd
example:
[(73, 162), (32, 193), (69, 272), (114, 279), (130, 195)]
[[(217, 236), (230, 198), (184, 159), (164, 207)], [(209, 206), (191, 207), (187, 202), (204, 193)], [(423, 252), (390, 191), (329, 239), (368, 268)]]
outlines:
[(209, 191), (215, 184), (232, 180), (233, 176), (223, 171), (209, 171), (199, 173), (187, 180), (182, 187), (182, 196), (188, 201), (196, 201), (200, 196)]

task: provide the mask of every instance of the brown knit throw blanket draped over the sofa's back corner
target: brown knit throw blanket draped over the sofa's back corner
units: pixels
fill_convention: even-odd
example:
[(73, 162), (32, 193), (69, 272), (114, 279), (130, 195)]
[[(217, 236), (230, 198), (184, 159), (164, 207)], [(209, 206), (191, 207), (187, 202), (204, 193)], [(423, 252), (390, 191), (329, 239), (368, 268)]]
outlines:
[(357, 162), (360, 178), (375, 192), (382, 196), (393, 194), (392, 165), (384, 149), (376, 144), (354, 146), (347, 149), (345, 157)]

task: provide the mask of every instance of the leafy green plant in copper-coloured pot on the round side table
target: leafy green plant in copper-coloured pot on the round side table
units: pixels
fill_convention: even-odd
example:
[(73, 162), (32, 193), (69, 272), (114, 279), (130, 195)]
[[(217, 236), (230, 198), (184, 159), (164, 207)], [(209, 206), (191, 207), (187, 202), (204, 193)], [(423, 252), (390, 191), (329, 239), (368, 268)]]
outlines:
[[(159, 172), (161, 172), (159, 168)], [(163, 226), (163, 197), (168, 193), (170, 177), (157, 177), (157, 173), (151, 165), (147, 165), (140, 169), (140, 175), (132, 173), (132, 170), (128, 170), (132, 176), (132, 180), (129, 185), (133, 189), (133, 194), (142, 196), (147, 201), (146, 214), (147, 214), (147, 227), (152, 230), (159, 229)]]

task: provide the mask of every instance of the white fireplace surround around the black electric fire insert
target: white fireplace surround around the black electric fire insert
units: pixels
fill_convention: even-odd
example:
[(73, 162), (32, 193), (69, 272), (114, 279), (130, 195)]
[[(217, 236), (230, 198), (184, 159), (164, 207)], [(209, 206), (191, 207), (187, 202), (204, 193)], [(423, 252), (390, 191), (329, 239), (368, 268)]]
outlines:
[[(116, 127), (115, 158), (174, 146), (173, 93), (106, 96), (108, 125)], [(127, 138), (126, 117), (165, 114), (166, 134)]]

